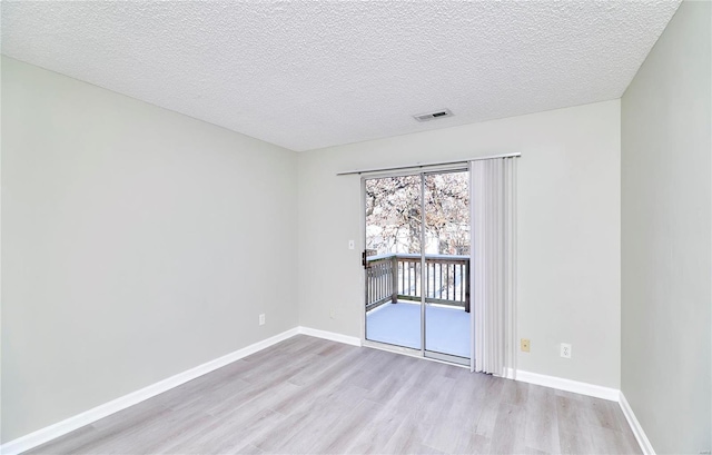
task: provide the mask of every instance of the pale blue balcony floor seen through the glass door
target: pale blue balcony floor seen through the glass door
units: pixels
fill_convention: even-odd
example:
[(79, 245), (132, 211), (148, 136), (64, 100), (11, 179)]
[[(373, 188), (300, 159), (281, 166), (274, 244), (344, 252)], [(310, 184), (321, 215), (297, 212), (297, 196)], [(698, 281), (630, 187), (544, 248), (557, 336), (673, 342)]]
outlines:
[[(421, 348), (421, 305), (385, 304), (366, 315), (366, 339)], [(469, 313), (459, 308), (425, 307), (427, 350), (469, 358)]]

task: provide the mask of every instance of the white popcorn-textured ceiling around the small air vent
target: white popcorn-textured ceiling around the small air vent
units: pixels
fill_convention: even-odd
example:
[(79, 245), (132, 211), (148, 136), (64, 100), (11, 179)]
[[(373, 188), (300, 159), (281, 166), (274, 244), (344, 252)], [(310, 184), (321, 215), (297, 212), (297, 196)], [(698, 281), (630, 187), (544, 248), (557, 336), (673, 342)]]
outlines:
[(6, 0), (2, 53), (307, 150), (619, 98), (679, 4)]

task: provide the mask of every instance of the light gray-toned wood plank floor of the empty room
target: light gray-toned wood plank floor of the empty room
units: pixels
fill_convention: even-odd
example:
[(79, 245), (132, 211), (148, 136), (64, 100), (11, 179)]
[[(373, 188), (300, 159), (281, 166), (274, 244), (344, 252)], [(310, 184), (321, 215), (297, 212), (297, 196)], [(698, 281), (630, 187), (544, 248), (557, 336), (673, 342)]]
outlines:
[(640, 453), (619, 405), (296, 336), (41, 454)]

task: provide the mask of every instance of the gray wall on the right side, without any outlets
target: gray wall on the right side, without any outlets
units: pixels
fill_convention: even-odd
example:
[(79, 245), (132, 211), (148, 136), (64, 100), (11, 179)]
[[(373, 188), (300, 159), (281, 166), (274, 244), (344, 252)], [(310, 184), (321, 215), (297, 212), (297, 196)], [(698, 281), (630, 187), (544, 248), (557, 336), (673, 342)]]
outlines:
[(657, 453), (712, 445), (711, 22), (683, 2), (622, 99), (622, 390)]

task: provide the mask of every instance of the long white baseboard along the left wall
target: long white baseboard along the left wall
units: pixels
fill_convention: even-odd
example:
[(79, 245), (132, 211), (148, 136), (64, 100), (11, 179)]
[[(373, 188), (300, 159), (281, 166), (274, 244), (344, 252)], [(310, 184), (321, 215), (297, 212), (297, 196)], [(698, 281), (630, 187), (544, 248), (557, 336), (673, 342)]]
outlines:
[[(14, 455), (14, 454), (29, 451), (37, 446), (40, 446), (59, 436), (63, 436), (67, 433), (81, 428), (85, 425), (89, 425), (93, 422), (97, 422), (100, 418), (109, 416), (119, 411), (126, 409), (129, 406), (134, 406), (158, 394), (162, 394), (164, 392), (170, 390), (171, 388), (177, 387), (181, 384), (185, 384), (188, 380), (192, 380), (199, 376), (202, 376), (215, 369), (224, 367), (225, 365), (228, 365), (235, 360), (239, 360), (243, 357), (247, 357), (250, 354), (255, 354), (258, 350), (265, 349), (271, 345), (275, 345), (279, 342), (290, 338), (301, 333), (300, 329), (301, 329), (300, 327), (295, 327), (287, 332), (283, 332), (281, 334), (275, 335), (267, 339), (263, 339), (261, 342), (257, 342), (253, 345), (235, 350), (222, 357), (216, 358), (214, 360), (199, 365), (195, 368), (190, 368), (186, 372), (179, 373), (175, 376), (171, 376), (158, 383), (151, 384), (148, 387), (144, 387), (139, 390), (132, 392), (128, 395), (113, 399), (109, 403), (105, 403), (102, 405), (93, 407), (81, 414), (77, 414), (76, 416), (69, 417), (53, 425), (47, 426), (44, 428), (40, 428), (36, 432), (21, 436), (17, 439), (9, 441), (8, 443), (0, 446), (0, 454)], [(320, 332), (320, 330), (316, 330), (316, 332)], [(308, 333), (305, 333), (305, 334), (310, 335)], [(328, 334), (328, 333), (325, 333), (325, 334)], [(314, 335), (314, 336), (318, 336), (318, 335)]]

